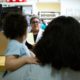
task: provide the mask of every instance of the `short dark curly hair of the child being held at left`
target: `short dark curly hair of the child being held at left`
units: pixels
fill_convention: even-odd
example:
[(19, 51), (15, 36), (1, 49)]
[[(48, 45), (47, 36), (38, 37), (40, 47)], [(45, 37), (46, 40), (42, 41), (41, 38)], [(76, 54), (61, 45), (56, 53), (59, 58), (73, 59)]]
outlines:
[(26, 33), (27, 21), (25, 16), (19, 13), (9, 13), (3, 22), (3, 31), (6, 37), (15, 39)]

